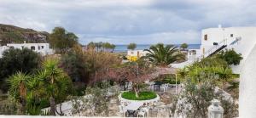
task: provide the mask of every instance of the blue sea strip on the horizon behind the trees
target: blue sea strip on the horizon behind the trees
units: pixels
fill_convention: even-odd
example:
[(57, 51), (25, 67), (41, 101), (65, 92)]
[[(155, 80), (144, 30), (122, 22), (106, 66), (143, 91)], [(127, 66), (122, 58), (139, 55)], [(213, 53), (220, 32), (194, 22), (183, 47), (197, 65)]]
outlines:
[[(180, 46), (180, 44), (175, 44), (177, 47)], [(199, 49), (201, 44), (188, 44), (189, 48), (188, 49)], [(143, 50), (143, 49), (148, 49), (150, 48), (151, 45), (146, 45), (146, 44), (137, 44), (137, 50)], [(114, 53), (123, 53), (127, 52), (127, 45), (116, 45), (114, 48), (113, 52)]]

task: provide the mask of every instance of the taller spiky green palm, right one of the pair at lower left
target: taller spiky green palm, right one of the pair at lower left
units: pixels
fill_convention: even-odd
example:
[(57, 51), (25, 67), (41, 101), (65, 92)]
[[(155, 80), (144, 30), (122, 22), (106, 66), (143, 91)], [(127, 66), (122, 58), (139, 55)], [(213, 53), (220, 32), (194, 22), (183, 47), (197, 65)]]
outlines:
[(58, 65), (58, 59), (46, 59), (43, 63), (43, 70), (38, 71), (37, 74), (37, 78), (41, 80), (40, 86), (43, 87), (40, 93), (49, 98), (50, 115), (55, 115), (55, 113), (63, 115), (61, 105), (60, 112), (58, 112), (55, 102), (63, 102), (72, 92), (70, 77)]

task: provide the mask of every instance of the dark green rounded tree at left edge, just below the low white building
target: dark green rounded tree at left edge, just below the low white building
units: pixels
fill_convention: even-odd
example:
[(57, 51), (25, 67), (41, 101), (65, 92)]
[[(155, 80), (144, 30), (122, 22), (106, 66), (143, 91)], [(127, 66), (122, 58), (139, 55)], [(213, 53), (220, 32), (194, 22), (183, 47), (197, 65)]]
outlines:
[(7, 90), (4, 84), (6, 78), (15, 74), (17, 71), (31, 73), (38, 68), (40, 63), (40, 55), (28, 48), (18, 49), (10, 48), (3, 52), (3, 57), (0, 59), (0, 81), (4, 91)]

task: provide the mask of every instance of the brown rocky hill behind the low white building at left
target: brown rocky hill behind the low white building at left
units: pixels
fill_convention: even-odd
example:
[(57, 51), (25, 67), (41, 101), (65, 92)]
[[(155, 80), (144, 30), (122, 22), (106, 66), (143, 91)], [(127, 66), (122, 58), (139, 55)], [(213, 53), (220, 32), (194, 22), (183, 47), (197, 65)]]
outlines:
[(15, 25), (0, 24), (0, 44), (6, 43), (27, 43), (47, 42), (49, 33), (46, 31), (34, 31), (32, 29), (24, 29)]

